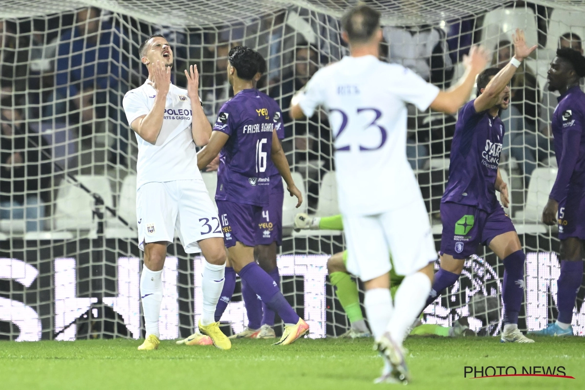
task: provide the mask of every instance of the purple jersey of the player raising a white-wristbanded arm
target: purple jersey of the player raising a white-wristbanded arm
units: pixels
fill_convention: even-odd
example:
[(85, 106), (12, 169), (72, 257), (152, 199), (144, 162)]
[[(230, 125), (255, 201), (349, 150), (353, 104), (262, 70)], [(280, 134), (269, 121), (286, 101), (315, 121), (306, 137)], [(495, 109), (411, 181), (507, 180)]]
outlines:
[(451, 146), (449, 181), (441, 202), (476, 206), (491, 213), (497, 206), (495, 178), (500, 164), (504, 123), (470, 101), (459, 111)]

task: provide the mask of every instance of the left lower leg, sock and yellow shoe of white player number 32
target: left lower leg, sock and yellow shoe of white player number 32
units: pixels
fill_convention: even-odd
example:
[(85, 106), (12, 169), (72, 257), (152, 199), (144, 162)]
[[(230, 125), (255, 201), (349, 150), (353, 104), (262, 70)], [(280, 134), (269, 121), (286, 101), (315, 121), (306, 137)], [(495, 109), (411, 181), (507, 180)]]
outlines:
[(167, 256), (167, 242), (144, 245), (144, 265), (140, 274), (140, 298), (144, 312), (146, 339), (139, 350), (155, 350), (159, 347), (159, 316), (163, 302), (163, 267)]

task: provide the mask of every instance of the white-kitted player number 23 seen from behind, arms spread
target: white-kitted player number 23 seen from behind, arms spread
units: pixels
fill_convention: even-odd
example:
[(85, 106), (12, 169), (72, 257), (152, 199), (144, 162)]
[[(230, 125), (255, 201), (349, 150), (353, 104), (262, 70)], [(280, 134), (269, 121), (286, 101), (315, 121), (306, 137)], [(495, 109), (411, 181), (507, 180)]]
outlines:
[[(291, 116), (311, 117), (322, 105), (335, 134), (339, 208), (347, 270), (364, 281), (364, 305), (385, 367), (377, 382), (407, 382), (402, 340), (431, 290), (437, 258), (417, 180), (406, 157), (407, 108), (454, 114), (486, 66), (478, 47), (464, 60), (466, 74), (449, 91), (407, 68), (378, 60), (380, 13), (356, 6), (342, 19), (350, 56), (319, 70), (291, 101)], [(388, 271), (405, 275), (394, 298)]]

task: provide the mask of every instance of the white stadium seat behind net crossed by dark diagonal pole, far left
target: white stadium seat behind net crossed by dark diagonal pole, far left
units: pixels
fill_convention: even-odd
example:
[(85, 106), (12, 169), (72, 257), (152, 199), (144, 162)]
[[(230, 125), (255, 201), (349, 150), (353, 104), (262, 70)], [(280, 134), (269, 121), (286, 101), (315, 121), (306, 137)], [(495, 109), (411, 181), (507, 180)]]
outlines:
[[(77, 175), (75, 177), (85, 187), (104, 199), (104, 205), (113, 208), (112, 189), (106, 176)], [(63, 180), (57, 190), (54, 223), (57, 230), (92, 230), (97, 226), (93, 210), (94, 198), (70, 180)], [(112, 215), (103, 209), (104, 218)]]

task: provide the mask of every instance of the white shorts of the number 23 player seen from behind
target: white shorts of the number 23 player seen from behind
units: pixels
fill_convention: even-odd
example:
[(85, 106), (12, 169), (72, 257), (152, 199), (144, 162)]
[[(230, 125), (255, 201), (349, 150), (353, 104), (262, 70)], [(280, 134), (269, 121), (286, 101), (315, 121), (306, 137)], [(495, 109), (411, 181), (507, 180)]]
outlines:
[(377, 215), (343, 215), (347, 271), (362, 281), (386, 274), (411, 275), (435, 261), (437, 251), (421, 199)]

